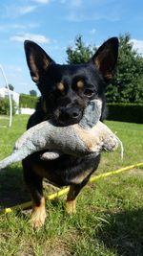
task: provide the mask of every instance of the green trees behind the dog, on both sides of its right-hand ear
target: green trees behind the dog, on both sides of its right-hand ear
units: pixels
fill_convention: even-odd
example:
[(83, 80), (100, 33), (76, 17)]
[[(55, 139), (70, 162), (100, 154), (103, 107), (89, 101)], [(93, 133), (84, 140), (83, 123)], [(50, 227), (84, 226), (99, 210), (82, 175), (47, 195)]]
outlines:
[[(143, 103), (143, 57), (133, 49), (131, 35), (119, 35), (119, 56), (114, 78), (108, 85), (108, 103)], [(67, 62), (81, 63), (92, 58), (97, 48), (86, 46), (81, 35), (67, 48)]]

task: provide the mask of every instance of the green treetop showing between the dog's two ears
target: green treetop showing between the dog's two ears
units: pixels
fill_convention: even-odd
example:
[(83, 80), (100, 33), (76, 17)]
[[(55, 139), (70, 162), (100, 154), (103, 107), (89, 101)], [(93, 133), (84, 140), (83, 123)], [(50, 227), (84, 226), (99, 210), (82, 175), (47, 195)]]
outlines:
[(82, 35), (77, 35), (75, 38), (75, 47), (69, 46), (66, 50), (68, 55), (67, 62), (69, 64), (78, 64), (87, 62), (96, 51), (95, 46), (86, 46), (82, 40)]

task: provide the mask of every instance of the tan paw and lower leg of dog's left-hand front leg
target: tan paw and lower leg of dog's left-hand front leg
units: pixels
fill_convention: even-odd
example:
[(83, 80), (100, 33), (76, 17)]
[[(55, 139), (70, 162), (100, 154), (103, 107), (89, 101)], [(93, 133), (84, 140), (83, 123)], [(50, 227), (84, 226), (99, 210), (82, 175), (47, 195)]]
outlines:
[(31, 213), (31, 225), (33, 228), (40, 228), (46, 218), (46, 210), (45, 210), (45, 198), (41, 198), (40, 205), (35, 206), (33, 202), (33, 207), (32, 207), (32, 213)]

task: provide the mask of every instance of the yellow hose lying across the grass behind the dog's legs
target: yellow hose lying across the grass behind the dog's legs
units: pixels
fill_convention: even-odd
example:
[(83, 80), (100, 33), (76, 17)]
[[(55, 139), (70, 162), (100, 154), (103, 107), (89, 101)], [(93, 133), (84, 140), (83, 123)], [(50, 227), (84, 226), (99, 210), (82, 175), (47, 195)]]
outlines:
[[(127, 167), (123, 167), (121, 169), (118, 169), (118, 170), (115, 170), (115, 171), (112, 171), (112, 172), (108, 172), (108, 173), (105, 173), (105, 174), (101, 174), (101, 175), (95, 175), (95, 176), (92, 176), (90, 178), (90, 183), (94, 182), (95, 180), (99, 179), (99, 178), (102, 178), (102, 177), (107, 177), (107, 176), (110, 176), (110, 175), (117, 175), (119, 173), (122, 173), (122, 172), (125, 172), (125, 171), (128, 171), (128, 170), (132, 170), (133, 168), (136, 168), (136, 167), (140, 167), (140, 166), (143, 166), (143, 163), (138, 163), (138, 164), (134, 164), (134, 165), (130, 165), (130, 166), (127, 166)], [(56, 193), (53, 193), (51, 195), (48, 195), (46, 197), (46, 199), (54, 199), (54, 198), (59, 198), (65, 194), (67, 194), (69, 192), (69, 187), (67, 188), (64, 188), (64, 189), (61, 189), (59, 190), (58, 192)], [(28, 201), (28, 202), (24, 202), (22, 204), (19, 204), (19, 205), (16, 205), (16, 206), (13, 206), (11, 208), (5, 208), (3, 209), (1, 212), (2, 213), (10, 213), (12, 210), (14, 209), (27, 209), (31, 207), (31, 201)]]

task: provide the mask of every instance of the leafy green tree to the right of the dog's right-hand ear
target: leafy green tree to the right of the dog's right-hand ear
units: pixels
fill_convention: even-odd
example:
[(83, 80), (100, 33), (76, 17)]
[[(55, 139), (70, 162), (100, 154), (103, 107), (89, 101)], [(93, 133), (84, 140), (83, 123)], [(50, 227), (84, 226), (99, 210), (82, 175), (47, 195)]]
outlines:
[(116, 74), (107, 89), (112, 103), (142, 103), (143, 58), (133, 50), (131, 35), (119, 35), (119, 56)]

